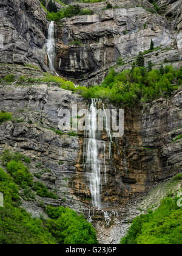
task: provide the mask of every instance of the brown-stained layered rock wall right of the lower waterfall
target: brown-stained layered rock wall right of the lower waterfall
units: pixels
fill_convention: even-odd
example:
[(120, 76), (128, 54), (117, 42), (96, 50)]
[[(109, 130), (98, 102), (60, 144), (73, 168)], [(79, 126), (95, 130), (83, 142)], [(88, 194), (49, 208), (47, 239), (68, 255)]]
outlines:
[(134, 115), (125, 113), (126, 130), (116, 147), (115, 163), (131, 194), (148, 190), (182, 170), (181, 140), (172, 143), (182, 131), (181, 102), (178, 91), (170, 99), (146, 105), (141, 112), (136, 108)]

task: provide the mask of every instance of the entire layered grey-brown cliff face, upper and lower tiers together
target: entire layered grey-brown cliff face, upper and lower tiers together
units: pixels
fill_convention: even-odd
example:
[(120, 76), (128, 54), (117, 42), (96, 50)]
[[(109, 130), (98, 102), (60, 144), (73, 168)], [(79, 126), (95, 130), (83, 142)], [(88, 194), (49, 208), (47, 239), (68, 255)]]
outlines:
[[(117, 8), (103, 10), (108, 3)], [(151, 61), (156, 68), (167, 60), (175, 67), (181, 66), (181, 0), (158, 1), (159, 13), (146, 0), (79, 5), (95, 14), (64, 18), (55, 24), (56, 69), (62, 76), (86, 86), (99, 84), (120, 55), (124, 63), (115, 66), (117, 72), (130, 68), (138, 52), (150, 48), (151, 39), (158, 48), (145, 54), (146, 65)], [(39, 1), (0, 0), (0, 19), (0, 34), (4, 38), (0, 76), (13, 73), (16, 77), (40, 77), (42, 70), (49, 71), (45, 65), (48, 22)], [(27, 63), (40, 69), (27, 67)], [(72, 111), (73, 104), (78, 105), (78, 110), (87, 108), (81, 96), (54, 84), (1, 85), (0, 110), (12, 112), (13, 121), (0, 126), (0, 151), (10, 149), (30, 157), (33, 174), (50, 169), (40, 180), (57, 190), (58, 200), (44, 198), (45, 204), (83, 212), (91, 205), (89, 186), (83, 176), (83, 133), (71, 134), (67, 129), (61, 130), (62, 135), (56, 133), (62, 119), (60, 110)], [(110, 104), (107, 107), (115, 108)], [(124, 137), (113, 141), (111, 163), (106, 133), (101, 134), (101, 165), (105, 161), (103, 144), (107, 158), (106, 169), (101, 172), (104, 207), (113, 209), (129, 199), (135, 200), (138, 194), (181, 171), (181, 140), (172, 143), (182, 133), (181, 107), (179, 89), (169, 99), (158, 99), (143, 108), (136, 105), (134, 111), (126, 108)], [(42, 199), (23, 201), (23, 205), (39, 216), (39, 200)]]

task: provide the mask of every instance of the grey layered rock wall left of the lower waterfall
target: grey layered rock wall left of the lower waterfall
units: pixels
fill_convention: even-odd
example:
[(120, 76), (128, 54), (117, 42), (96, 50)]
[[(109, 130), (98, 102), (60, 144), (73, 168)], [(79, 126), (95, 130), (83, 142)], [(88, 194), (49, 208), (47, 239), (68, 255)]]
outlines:
[[(43, 199), (44, 204), (67, 205), (79, 212), (83, 204), (76, 199), (72, 186), (68, 185), (76, 172), (79, 136), (71, 136), (66, 130), (59, 135), (50, 128), (59, 130), (60, 110), (64, 107), (72, 112), (72, 104), (77, 104), (78, 110), (83, 108), (83, 98), (43, 84), (13, 90), (12, 87), (1, 87), (0, 95), (0, 109), (13, 113), (13, 121), (0, 126), (0, 151), (19, 151), (30, 157), (29, 169), (33, 174), (50, 169), (51, 172), (45, 172), (41, 180), (47, 187), (58, 191), (59, 201)], [(25, 202), (27, 210), (35, 216), (39, 200)]]

